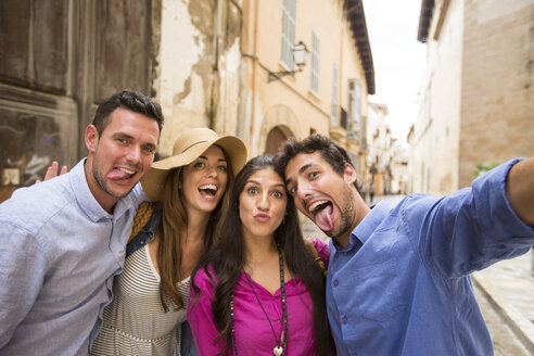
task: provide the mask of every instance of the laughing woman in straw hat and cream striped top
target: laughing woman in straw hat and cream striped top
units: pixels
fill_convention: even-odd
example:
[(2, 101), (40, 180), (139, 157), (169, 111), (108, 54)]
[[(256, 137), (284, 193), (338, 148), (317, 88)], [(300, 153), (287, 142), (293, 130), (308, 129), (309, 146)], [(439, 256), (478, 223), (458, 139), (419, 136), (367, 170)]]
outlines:
[(191, 271), (217, 238), (245, 161), (239, 138), (194, 128), (152, 164), (141, 185), (153, 203), (136, 217), (91, 355), (180, 355)]

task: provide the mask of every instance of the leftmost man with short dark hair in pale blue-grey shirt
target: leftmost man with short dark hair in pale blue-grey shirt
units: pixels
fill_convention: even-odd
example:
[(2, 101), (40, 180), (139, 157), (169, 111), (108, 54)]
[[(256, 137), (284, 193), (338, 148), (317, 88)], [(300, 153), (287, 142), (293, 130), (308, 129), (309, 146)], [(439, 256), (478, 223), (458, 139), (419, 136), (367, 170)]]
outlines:
[(88, 355), (120, 272), (163, 115), (123, 91), (97, 110), (68, 174), (0, 204), (0, 355)]

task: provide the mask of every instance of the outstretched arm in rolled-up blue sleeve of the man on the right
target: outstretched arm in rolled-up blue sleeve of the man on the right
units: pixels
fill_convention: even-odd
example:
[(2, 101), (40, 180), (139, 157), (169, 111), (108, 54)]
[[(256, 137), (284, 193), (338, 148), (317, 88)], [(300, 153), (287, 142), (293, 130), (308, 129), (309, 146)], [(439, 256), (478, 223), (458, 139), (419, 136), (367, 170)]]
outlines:
[(517, 257), (534, 245), (534, 157), (510, 160), (442, 199), (410, 195), (402, 209), (407, 236), (446, 278)]

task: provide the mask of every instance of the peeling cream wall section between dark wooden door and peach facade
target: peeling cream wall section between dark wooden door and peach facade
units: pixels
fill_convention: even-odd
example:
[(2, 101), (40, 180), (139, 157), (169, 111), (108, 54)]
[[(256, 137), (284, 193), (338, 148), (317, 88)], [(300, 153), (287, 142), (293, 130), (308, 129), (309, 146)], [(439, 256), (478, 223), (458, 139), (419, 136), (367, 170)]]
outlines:
[(158, 148), (165, 156), (187, 128), (237, 134), (241, 15), (230, 1), (162, 2), (153, 87), (166, 118)]

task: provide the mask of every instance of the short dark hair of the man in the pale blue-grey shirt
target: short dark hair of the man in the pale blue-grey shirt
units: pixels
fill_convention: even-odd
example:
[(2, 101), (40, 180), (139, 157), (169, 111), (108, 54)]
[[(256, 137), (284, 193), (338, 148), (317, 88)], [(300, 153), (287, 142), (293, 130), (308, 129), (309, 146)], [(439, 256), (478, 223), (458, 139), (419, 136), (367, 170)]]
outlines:
[(117, 107), (124, 107), (131, 112), (153, 118), (157, 123), (160, 134), (162, 134), (164, 122), (162, 106), (140, 92), (123, 90), (104, 100), (97, 109), (97, 113), (92, 119), (92, 125), (97, 127), (99, 136), (102, 136), (105, 127), (110, 124), (110, 115)]

